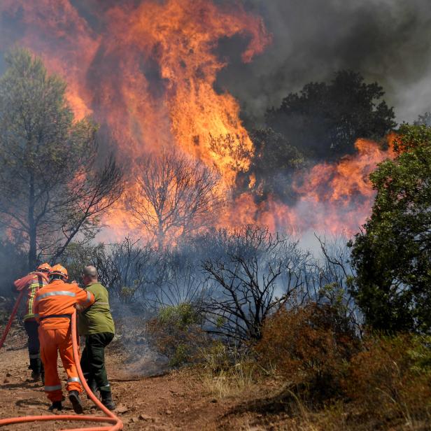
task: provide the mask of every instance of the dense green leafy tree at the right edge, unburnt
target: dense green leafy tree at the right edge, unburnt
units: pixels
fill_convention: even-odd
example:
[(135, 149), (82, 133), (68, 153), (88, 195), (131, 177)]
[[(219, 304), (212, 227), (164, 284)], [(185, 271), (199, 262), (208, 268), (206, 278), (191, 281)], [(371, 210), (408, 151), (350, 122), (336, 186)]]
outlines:
[(431, 129), (402, 125), (395, 160), (371, 175), (371, 218), (355, 236), (355, 297), (386, 332), (431, 330)]

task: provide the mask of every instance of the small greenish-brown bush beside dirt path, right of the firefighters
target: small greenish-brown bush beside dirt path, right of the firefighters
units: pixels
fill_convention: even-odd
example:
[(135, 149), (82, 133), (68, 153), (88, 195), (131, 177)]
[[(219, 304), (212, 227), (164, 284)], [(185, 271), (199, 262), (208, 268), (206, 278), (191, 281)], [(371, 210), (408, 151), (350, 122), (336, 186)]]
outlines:
[(207, 342), (201, 328), (202, 314), (190, 303), (162, 307), (147, 323), (150, 342), (169, 358), (171, 367), (195, 362)]

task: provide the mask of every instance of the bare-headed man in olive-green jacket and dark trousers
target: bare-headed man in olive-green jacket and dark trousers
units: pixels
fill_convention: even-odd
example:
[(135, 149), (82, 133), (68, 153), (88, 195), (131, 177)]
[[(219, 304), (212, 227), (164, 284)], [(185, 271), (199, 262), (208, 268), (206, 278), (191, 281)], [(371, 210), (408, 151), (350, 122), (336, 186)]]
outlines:
[(99, 390), (101, 402), (106, 408), (113, 410), (115, 404), (105, 368), (105, 347), (111, 343), (115, 333), (108, 290), (97, 281), (97, 269), (92, 266), (84, 268), (83, 282), (84, 289), (94, 295), (94, 304), (78, 316), (78, 332), (85, 336), (80, 366), (92, 392)]

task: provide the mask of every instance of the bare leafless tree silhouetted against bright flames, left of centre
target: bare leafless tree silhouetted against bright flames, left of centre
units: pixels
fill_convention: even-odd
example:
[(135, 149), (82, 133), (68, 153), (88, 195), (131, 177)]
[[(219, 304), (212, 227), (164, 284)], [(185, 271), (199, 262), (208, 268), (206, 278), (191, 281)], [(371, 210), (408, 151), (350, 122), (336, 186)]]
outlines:
[(222, 204), (219, 178), (202, 162), (164, 148), (143, 157), (141, 167), (127, 202), (159, 248), (167, 236), (185, 236), (215, 220)]

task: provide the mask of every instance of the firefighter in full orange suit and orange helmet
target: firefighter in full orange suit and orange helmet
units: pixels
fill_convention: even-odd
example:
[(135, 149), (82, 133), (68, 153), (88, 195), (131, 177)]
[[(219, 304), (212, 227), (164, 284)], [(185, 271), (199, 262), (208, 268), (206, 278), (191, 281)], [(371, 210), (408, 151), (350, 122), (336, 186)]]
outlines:
[(39, 322), (39, 341), (41, 342), (41, 358), (45, 367), (45, 393), (52, 402), (50, 410), (62, 410), (62, 383), (57, 371), (57, 352), (62, 358), (67, 373), (67, 390), (73, 410), (83, 413), (79, 394), (78, 372), (73, 361), (71, 339), (71, 315), (76, 304), (86, 308), (94, 302), (91, 292), (78, 287), (75, 283), (66, 283), (66, 268), (60, 264), (52, 267), (48, 274), (50, 282), (39, 290), (34, 299), (34, 315)]

